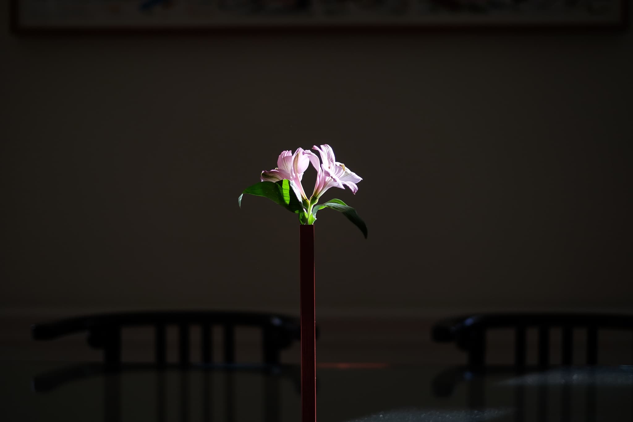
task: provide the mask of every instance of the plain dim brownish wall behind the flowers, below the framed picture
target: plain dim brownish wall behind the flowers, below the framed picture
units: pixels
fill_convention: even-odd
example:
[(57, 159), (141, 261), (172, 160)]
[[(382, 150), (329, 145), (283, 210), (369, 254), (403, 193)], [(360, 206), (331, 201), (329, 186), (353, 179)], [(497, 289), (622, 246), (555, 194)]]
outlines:
[[(6, 11), (2, 11), (6, 13)], [(324, 315), (631, 309), (633, 36), (15, 37), (0, 309), (298, 313), (298, 221), (237, 195), (329, 143)]]

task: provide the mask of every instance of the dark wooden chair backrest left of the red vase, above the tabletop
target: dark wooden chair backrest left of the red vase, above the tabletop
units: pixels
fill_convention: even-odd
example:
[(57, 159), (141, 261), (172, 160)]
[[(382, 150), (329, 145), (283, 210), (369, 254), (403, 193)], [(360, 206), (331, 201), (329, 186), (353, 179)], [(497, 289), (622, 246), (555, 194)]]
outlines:
[(166, 327), (178, 326), (179, 363), (190, 364), (190, 327), (201, 327), (201, 355), (203, 364), (214, 363), (211, 344), (213, 326), (223, 328), (223, 362), (235, 363), (235, 327), (261, 328), (263, 363), (278, 365), (280, 351), (300, 340), (298, 318), (280, 314), (222, 311), (163, 311), (97, 314), (68, 318), (52, 323), (35, 324), (32, 335), (35, 340), (52, 340), (77, 332), (88, 333), (88, 344), (104, 351), (104, 363), (118, 366), (121, 362), (121, 330), (128, 326), (153, 326), (156, 364), (166, 364)]

